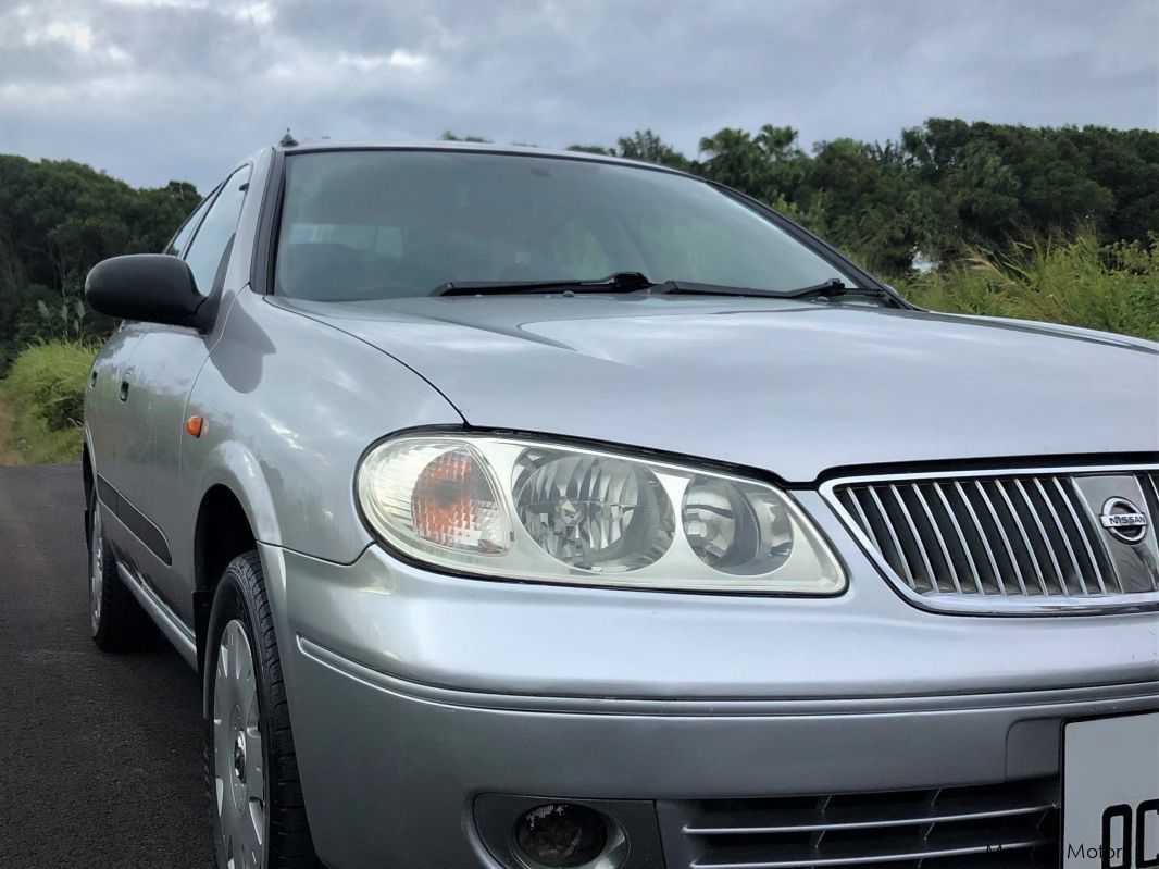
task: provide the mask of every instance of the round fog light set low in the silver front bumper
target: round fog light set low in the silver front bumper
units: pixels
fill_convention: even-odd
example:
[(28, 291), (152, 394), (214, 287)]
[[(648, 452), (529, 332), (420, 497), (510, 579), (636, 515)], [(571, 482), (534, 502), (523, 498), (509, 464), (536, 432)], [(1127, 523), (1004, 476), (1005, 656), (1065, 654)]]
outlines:
[(516, 823), (515, 842), (531, 869), (588, 866), (607, 848), (607, 821), (574, 803), (540, 805)]

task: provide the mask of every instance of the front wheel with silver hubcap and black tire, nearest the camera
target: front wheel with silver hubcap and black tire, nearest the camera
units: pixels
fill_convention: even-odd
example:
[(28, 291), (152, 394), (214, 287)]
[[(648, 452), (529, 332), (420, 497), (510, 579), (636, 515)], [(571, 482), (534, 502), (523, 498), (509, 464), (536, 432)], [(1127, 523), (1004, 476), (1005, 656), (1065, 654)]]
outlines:
[(256, 552), (229, 562), (213, 596), (205, 709), (205, 789), (216, 864), (319, 869)]

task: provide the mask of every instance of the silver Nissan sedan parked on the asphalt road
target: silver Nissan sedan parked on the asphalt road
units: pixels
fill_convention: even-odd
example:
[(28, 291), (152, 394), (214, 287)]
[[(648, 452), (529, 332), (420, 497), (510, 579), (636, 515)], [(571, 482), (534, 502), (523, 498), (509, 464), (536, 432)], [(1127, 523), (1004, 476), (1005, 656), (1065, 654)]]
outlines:
[(93, 637), (198, 672), (218, 866), (1159, 864), (1159, 345), (460, 144), (87, 295)]

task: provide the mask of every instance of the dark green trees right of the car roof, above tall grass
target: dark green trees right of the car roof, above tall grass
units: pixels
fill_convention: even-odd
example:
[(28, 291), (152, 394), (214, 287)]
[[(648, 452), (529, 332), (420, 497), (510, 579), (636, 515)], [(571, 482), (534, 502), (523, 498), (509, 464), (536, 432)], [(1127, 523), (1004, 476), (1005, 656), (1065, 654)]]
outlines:
[(576, 151), (648, 160), (743, 190), (873, 271), (950, 263), (1012, 241), (1091, 228), (1103, 243), (1159, 231), (1159, 133), (932, 118), (884, 144), (724, 129), (690, 159), (650, 130)]

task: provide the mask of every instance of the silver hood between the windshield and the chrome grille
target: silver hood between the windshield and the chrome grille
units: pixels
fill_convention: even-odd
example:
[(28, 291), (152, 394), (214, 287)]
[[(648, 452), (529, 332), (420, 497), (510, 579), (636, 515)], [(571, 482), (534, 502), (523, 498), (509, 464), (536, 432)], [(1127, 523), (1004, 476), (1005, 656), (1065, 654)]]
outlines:
[(271, 302), (395, 357), (471, 425), (786, 482), (850, 466), (1159, 450), (1159, 344), (1087, 330), (639, 294)]

